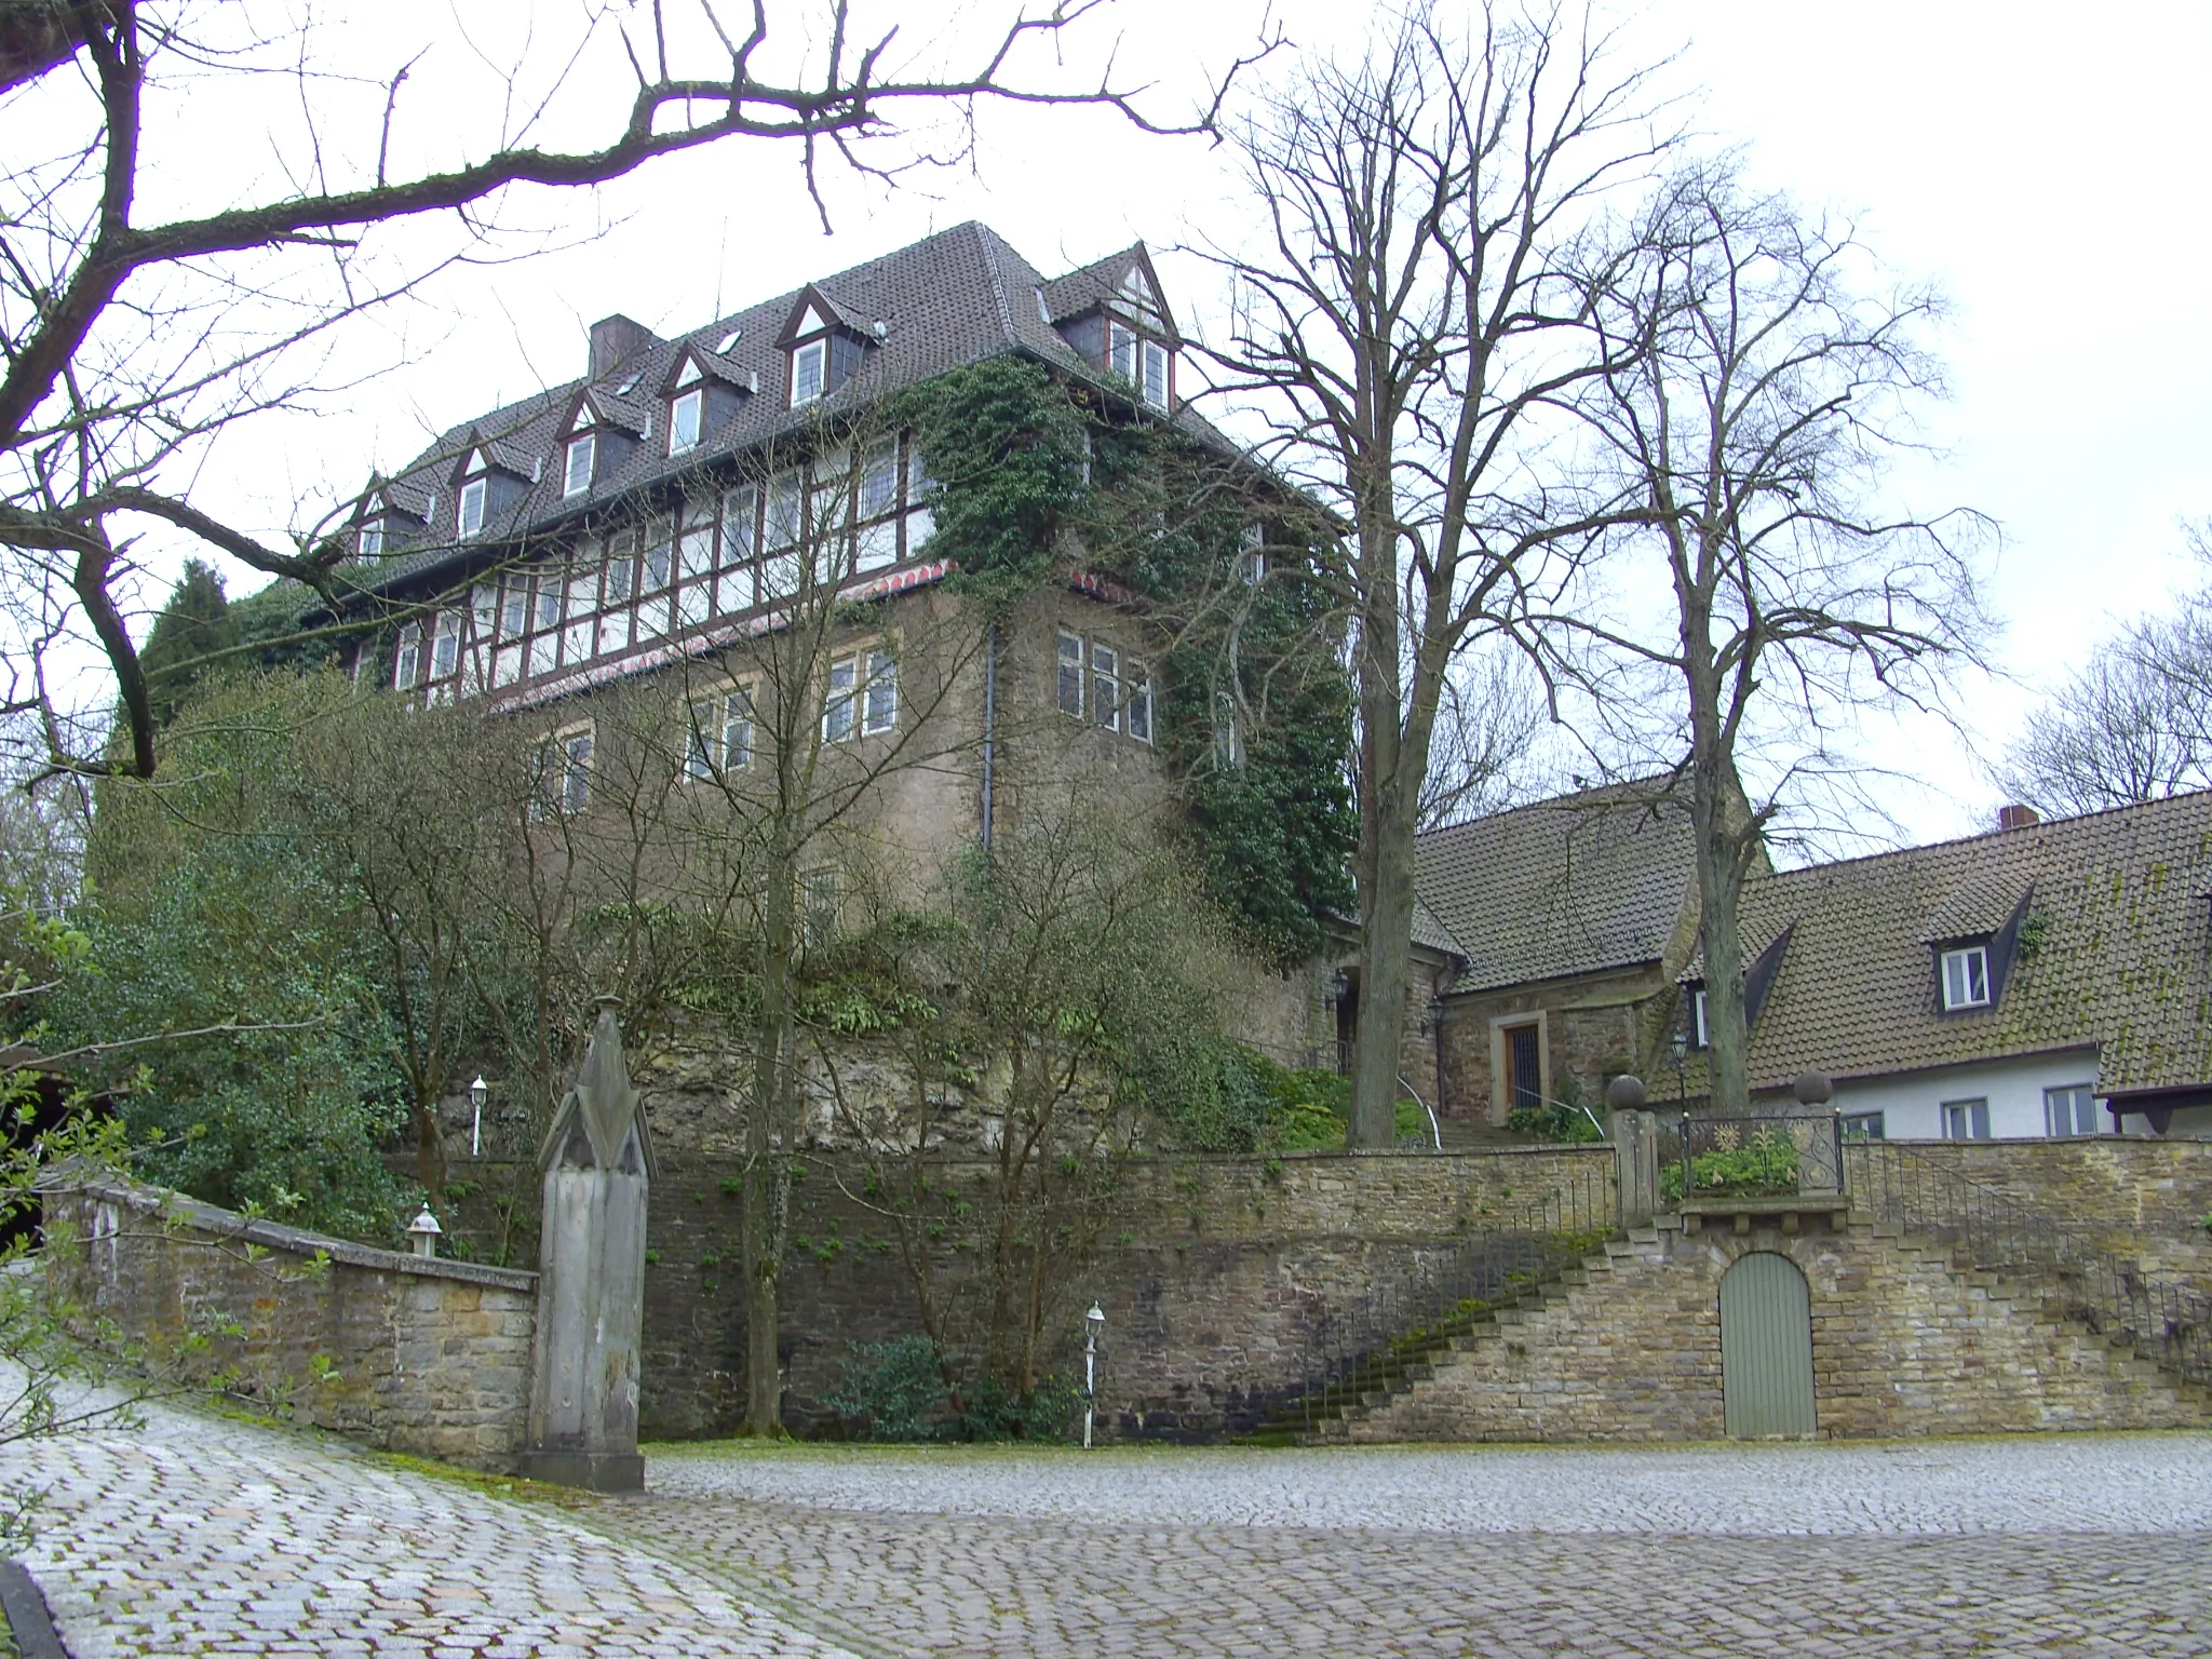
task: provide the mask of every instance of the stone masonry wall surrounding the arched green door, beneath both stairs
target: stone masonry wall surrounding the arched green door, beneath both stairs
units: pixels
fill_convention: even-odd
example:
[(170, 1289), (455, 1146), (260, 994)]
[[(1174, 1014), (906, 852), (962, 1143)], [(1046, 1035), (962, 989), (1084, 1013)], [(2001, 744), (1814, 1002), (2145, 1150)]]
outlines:
[(1721, 1274), (1776, 1250), (1812, 1292), (1823, 1438), (2203, 1427), (2201, 1389), (2046, 1307), (2037, 1285), (1936, 1243), (1843, 1232), (1683, 1234), (1608, 1248), (1542, 1310), (1509, 1312), (1436, 1374), (1352, 1425), (1358, 1440), (1710, 1440), (1723, 1433)]

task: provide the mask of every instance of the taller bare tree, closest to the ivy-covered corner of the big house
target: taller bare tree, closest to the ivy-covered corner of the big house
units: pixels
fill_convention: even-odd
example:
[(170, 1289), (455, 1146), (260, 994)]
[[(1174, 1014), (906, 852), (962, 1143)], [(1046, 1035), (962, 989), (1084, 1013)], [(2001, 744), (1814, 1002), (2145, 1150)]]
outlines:
[(1416, 4), (1365, 62), (1310, 62), (1237, 133), (1263, 252), (1212, 354), (1256, 394), (1272, 465), (1327, 507), (1325, 575), (1358, 679), (1360, 1031), (1352, 1146), (1396, 1141), (1413, 832), (1455, 655), (1608, 522), (1546, 445), (1601, 367), (1568, 252), (1663, 148), (1641, 71), (1573, 4)]

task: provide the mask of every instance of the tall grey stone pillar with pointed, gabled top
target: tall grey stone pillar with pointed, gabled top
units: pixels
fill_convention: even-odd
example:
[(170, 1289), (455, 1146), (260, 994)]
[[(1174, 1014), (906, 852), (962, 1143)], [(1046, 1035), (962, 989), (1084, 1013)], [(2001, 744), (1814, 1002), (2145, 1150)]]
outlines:
[(653, 1141), (611, 1000), (599, 1002), (591, 1048), (553, 1113), (538, 1168), (544, 1230), (522, 1473), (591, 1491), (641, 1491), (637, 1365)]

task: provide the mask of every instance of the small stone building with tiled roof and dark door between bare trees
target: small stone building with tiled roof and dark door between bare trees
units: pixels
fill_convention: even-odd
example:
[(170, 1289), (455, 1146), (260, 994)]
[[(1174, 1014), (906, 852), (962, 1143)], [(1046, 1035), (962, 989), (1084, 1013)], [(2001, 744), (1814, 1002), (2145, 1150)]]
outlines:
[(1436, 1004), (1447, 1117), (1504, 1124), (1562, 1099), (1599, 1110), (1610, 1077), (1648, 1073), (1697, 931), (1690, 818), (1663, 783), (1582, 790), (1413, 843), (1413, 889), (1460, 956)]

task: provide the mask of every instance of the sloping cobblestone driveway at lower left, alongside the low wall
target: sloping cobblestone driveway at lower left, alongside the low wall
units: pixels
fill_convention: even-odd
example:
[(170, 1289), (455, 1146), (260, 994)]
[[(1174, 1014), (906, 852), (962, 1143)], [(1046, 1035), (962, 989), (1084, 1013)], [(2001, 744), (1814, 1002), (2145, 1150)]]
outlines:
[(24, 1566), (73, 1659), (838, 1659), (699, 1568), (546, 1504), (323, 1438), (144, 1416), (0, 1460), (0, 1478), (49, 1489)]

